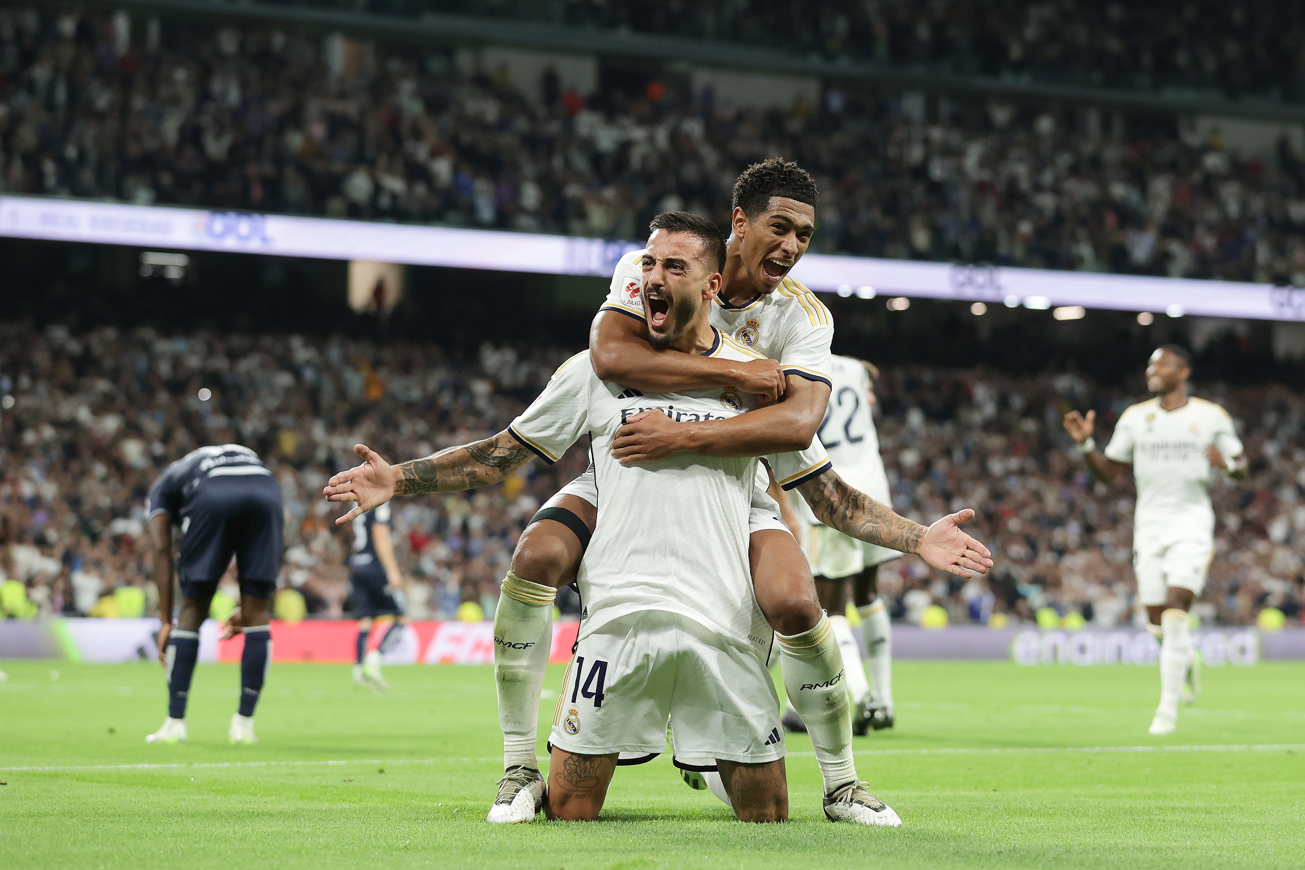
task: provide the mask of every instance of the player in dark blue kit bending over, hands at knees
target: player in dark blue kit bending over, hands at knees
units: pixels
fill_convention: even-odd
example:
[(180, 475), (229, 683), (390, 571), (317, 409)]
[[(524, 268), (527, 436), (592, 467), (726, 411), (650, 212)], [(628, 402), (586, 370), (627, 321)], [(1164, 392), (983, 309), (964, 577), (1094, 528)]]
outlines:
[[(232, 743), (253, 743), (253, 708), (258, 703), (271, 637), (268, 617), (281, 573), (281, 484), (258, 454), (238, 443), (192, 450), (168, 466), (150, 487), (146, 503), (159, 588), (159, 659), (167, 669), (168, 717), (145, 738), (149, 743), (185, 741), (185, 702), (200, 656), (200, 623), (218, 580), (236, 557), (240, 582), (238, 625), (245, 646), (240, 657), (240, 710), (231, 717)], [(172, 627), (172, 527), (181, 530), (177, 574), (181, 608)]]

